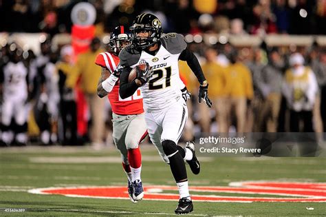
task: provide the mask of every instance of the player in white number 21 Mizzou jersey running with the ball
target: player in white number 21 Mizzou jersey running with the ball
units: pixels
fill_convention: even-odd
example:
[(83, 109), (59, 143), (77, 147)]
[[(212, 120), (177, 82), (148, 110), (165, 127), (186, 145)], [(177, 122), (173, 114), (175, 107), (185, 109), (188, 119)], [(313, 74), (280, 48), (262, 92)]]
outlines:
[[(180, 200), (175, 214), (186, 214), (193, 211), (193, 203), (184, 160), (194, 174), (199, 174), (200, 165), (193, 143), (188, 143), (185, 149), (177, 145), (188, 117), (188, 94), (180, 80), (178, 60), (187, 61), (197, 76), (200, 83), (199, 103), (204, 99), (206, 105), (211, 107), (208, 83), (197, 58), (186, 48), (184, 37), (177, 33), (162, 36), (160, 20), (153, 14), (140, 14), (130, 30), (133, 47), (124, 48), (119, 54), (123, 67), (120, 96), (122, 99), (127, 98), (138, 87), (142, 90), (149, 136), (160, 153), (164, 153), (162, 158), (169, 163), (179, 189)], [(131, 69), (140, 64), (146, 64), (145, 70), (138, 68), (136, 78), (129, 82)]]

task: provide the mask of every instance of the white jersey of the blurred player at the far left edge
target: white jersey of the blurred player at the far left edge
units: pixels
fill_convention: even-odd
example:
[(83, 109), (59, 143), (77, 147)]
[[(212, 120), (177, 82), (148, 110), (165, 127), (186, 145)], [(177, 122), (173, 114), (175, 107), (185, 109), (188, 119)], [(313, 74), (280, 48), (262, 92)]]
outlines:
[(27, 99), (28, 84), (26, 76), (28, 70), (23, 62), (9, 62), (3, 68), (3, 96), (4, 99)]

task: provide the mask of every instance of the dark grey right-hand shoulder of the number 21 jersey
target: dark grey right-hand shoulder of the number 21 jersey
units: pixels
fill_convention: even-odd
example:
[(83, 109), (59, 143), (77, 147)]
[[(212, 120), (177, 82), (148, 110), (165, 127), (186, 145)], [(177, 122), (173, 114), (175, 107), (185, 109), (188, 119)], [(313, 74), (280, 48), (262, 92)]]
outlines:
[(175, 32), (164, 34), (160, 41), (164, 48), (171, 52), (171, 54), (180, 54), (187, 47), (184, 36)]

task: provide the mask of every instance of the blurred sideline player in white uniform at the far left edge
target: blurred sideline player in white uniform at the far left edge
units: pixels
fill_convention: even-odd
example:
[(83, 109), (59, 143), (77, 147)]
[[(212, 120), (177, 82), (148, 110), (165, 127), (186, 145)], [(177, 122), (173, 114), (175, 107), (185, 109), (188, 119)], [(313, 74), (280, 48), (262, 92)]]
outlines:
[[(1, 112), (1, 123), (3, 132), (1, 142), (10, 145), (15, 134), (17, 145), (25, 145), (27, 136), (28, 107), (28, 69), (21, 61), (22, 50), (17, 44), (10, 45), (10, 61), (3, 68), (2, 94), (3, 104)], [(14, 125), (10, 125), (14, 118)], [(11, 127), (14, 126), (14, 127)]]

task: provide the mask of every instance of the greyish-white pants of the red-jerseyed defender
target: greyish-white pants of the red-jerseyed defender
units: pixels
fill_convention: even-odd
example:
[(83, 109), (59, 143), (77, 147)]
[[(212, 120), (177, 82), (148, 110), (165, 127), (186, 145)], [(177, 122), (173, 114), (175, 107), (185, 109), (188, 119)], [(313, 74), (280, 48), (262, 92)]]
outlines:
[(114, 144), (121, 153), (122, 162), (129, 165), (127, 149), (138, 148), (147, 134), (144, 113), (133, 115), (112, 113), (112, 117)]

